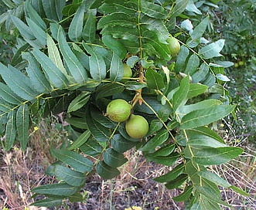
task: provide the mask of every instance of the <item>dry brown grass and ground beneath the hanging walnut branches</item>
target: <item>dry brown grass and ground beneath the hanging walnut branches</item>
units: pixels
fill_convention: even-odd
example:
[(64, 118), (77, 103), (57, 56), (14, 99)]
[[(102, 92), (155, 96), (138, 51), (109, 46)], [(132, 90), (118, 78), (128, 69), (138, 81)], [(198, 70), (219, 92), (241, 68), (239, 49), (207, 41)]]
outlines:
[[(31, 135), (28, 149), (20, 151), (1, 151), (0, 154), (0, 209), (46, 209), (29, 206), (33, 202), (31, 189), (38, 185), (56, 181), (44, 174), (54, 159), (50, 148), (60, 147), (67, 141), (67, 131), (63, 127), (46, 126), (42, 123), (39, 130)], [(236, 161), (213, 168), (217, 174), (237, 187), (243, 188), (251, 197), (237, 195), (230, 189), (223, 189), (222, 195), (234, 209), (256, 209), (256, 151), (240, 141), (244, 154)], [(168, 191), (164, 185), (153, 178), (166, 173), (170, 168), (152, 162), (147, 163), (138, 151), (128, 151), (128, 163), (120, 168), (121, 174), (111, 181), (101, 180), (92, 174), (86, 180), (82, 191), (84, 202), (67, 202), (59, 209), (125, 209), (139, 206), (142, 209), (184, 209), (182, 203), (172, 201), (179, 195), (179, 189)], [(225, 208), (224, 208), (225, 209)], [(226, 208), (227, 209), (227, 208)]]

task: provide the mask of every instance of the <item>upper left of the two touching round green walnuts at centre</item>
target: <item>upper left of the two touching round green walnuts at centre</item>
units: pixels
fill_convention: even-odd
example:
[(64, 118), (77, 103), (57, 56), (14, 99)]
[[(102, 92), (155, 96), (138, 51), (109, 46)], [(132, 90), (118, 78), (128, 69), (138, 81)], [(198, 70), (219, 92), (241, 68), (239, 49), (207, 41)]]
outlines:
[(112, 100), (108, 103), (106, 115), (114, 122), (124, 122), (131, 114), (131, 105), (122, 99)]

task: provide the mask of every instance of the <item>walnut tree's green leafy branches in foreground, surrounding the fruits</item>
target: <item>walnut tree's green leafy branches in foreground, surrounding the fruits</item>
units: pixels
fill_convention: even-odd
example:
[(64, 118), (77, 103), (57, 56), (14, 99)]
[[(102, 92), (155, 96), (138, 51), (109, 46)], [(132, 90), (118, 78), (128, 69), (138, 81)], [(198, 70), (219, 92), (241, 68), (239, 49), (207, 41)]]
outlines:
[[(212, 129), (235, 108), (224, 88), (224, 68), (230, 66), (220, 54), (224, 39), (204, 37), (210, 18), (200, 19), (219, 1), (3, 2), (9, 9), (0, 16), (2, 27), (19, 31), (11, 65), (0, 63), (5, 150), (15, 141), (25, 150), (31, 120), (49, 113), (67, 113), (73, 129), (73, 143), (53, 150), (59, 161), (47, 169), (60, 182), (33, 188), (35, 196), (46, 195), (33, 205), (82, 200), (86, 176), (93, 170), (101, 178), (118, 176), (131, 148), (172, 168), (155, 181), (182, 188), (172, 199), (189, 209), (230, 206), (219, 186), (247, 195), (211, 171), (242, 153)], [(181, 43), (176, 57), (170, 56), (169, 36)], [(125, 80), (123, 63), (133, 71)], [(104, 115), (117, 98), (148, 120), (142, 139), (129, 137), (125, 123)]]

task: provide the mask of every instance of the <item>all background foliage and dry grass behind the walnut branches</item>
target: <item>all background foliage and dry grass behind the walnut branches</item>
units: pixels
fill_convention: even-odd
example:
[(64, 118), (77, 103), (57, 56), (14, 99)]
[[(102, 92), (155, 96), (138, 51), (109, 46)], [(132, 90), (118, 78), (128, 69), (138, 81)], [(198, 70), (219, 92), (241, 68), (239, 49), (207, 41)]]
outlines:
[[(195, 1), (197, 2), (197, 1)], [(214, 1), (213, 1), (214, 2)], [(215, 1), (218, 2), (218, 1)], [(198, 3), (199, 4), (199, 3)], [(0, 2), (0, 10), (6, 11), (6, 6)], [(199, 5), (197, 5), (199, 6)], [(194, 24), (200, 22), (204, 15), (210, 15), (210, 24), (207, 27), (209, 39), (226, 39), (225, 46), (221, 52), (231, 62), (238, 66), (227, 68), (227, 76), (230, 82), (225, 84), (230, 93), (230, 99), (238, 104), (237, 119), (229, 116), (224, 120), (225, 124), (217, 124), (228, 144), (244, 147), (245, 153), (232, 164), (224, 164), (214, 170), (222, 174), (231, 184), (240, 185), (252, 196), (244, 198), (232, 191), (224, 190), (223, 197), (237, 209), (254, 209), (255, 207), (255, 1), (220, 1), (218, 8), (213, 5), (204, 5), (200, 8), (207, 14), (197, 15), (192, 18)], [(187, 15), (191, 15), (188, 14)], [(193, 16), (193, 15), (192, 15)], [(176, 33), (186, 30), (183, 20), (178, 19)], [(0, 19), (1, 23), (1, 19)], [(184, 23), (185, 24), (185, 23)], [(15, 39), (17, 29), (5, 27), (0, 32), (0, 59), (5, 65), (12, 63), (12, 57), (16, 52), (19, 40)], [(179, 36), (183, 41), (183, 37)], [(184, 38), (185, 40), (185, 38)], [(244, 61), (244, 65), (239, 65)], [(10, 153), (2, 150), (0, 156), (0, 206), (6, 208), (23, 209), (32, 202), (30, 188), (44, 183), (55, 183), (54, 178), (44, 174), (49, 163), (53, 163), (53, 155), (49, 150), (56, 147), (65, 147), (70, 137), (71, 129), (63, 116), (50, 115), (43, 121), (32, 122), (35, 127), (31, 130), (31, 143), (26, 152), (18, 147)], [(2, 128), (3, 129), (3, 128)], [(165, 209), (173, 206), (173, 209), (183, 209), (184, 206), (172, 201), (172, 197), (179, 194), (179, 190), (166, 191), (163, 185), (152, 184), (152, 178), (164, 174), (166, 167), (159, 168), (155, 164), (145, 164), (145, 159), (140, 153), (128, 153), (129, 164), (121, 171), (121, 178), (113, 181), (101, 181), (94, 174), (87, 180), (84, 188), (84, 203), (77, 203), (76, 208), (81, 206), (90, 209), (90, 206), (104, 209), (123, 209), (128, 206), (137, 205), (143, 209)], [(36, 162), (36, 164), (35, 164)], [(134, 169), (138, 166), (138, 170)], [(16, 182), (15, 182), (16, 181)], [(31, 183), (32, 182), (32, 183)], [(149, 185), (148, 185), (149, 183)], [(119, 187), (117, 187), (119, 186)], [(152, 187), (153, 186), (153, 187)], [(160, 193), (159, 193), (160, 192)], [(97, 198), (95, 200), (95, 198)], [(106, 200), (106, 198), (108, 198)], [(160, 201), (160, 202), (154, 202)], [(170, 201), (163, 204), (162, 202)], [(72, 206), (70, 203), (67, 205)], [(64, 207), (62, 207), (64, 208)], [(72, 208), (75, 208), (74, 205)]]

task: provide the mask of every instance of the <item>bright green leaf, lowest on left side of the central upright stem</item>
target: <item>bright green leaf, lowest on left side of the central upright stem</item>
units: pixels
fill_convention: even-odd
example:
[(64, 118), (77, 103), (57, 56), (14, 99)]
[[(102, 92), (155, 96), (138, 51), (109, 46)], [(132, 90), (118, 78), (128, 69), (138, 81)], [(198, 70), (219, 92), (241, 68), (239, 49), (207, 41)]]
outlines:
[(124, 59), (127, 53), (125, 46), (118, 41), (118, 39), (114, 39), (111, 35), (102, 36), (102, 42), (105, 46), (111, 49), (120, 59)]

